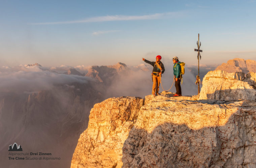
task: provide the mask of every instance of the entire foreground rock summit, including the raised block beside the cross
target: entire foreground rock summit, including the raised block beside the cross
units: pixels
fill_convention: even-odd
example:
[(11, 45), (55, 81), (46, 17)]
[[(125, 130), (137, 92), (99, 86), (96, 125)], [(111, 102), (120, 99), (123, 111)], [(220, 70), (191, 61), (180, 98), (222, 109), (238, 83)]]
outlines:
[(255, 167), (255, 73), (212, 71), (203, 87), (96, 104), (71, 167)]

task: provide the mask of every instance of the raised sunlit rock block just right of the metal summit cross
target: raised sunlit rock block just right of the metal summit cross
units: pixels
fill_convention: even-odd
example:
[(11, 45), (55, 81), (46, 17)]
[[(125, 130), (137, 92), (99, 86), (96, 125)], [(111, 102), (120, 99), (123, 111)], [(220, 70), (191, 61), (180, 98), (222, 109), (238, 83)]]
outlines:
[(256, 99), (256, 75), (250, 72), (210, 71), (203, 78), (199, 99)]

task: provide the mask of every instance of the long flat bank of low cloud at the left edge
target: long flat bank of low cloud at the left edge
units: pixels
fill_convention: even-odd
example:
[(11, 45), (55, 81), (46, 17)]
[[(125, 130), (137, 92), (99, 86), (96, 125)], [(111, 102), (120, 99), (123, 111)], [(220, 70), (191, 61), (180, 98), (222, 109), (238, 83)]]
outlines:
[(43, 67), (0, 68), (0, 93), (31, 93), (52, 89), (56, 85), (87, 83), (91, 78), (65, 75), (45, 70)]

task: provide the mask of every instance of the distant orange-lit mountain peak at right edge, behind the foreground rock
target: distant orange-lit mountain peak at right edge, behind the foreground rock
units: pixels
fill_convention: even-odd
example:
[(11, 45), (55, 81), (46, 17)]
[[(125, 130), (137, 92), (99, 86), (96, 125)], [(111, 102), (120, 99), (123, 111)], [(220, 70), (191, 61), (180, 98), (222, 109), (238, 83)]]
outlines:
[(215, 70), (222, 70), (228, 73), (232, 72), (256, 72), (256, 61), (255, 60), (244, 60), (242, 58), (234, 58), (218, 66)]

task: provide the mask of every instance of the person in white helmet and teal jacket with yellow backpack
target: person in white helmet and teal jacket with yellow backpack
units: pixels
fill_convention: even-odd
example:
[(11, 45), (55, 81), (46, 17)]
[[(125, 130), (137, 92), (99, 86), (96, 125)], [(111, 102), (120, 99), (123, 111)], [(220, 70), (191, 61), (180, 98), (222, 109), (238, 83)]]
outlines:
[(174, 56), (172, 58), (173, 61), (173, 75), (174, 75), (174, 80), (175, 80), (175, 88), (176, 88), (176, 93), (173, 95), (175, 97), (177, 96), (182, 96), (181, 95), (181, 84), (182, 84), (182, 75), (185, 73), (185, 63), (180, 62), (179, 58), (177, 56)]

